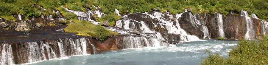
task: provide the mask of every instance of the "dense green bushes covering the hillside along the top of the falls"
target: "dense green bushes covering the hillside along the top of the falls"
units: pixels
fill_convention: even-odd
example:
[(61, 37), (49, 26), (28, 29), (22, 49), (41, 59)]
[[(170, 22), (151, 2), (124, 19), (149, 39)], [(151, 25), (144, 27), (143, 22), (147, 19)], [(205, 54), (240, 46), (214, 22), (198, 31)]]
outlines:
[[(148, 12), (158, 9), (161, 12), (168, 11), (172, 14), (182, 13), (184, 9), (192, 9), (191, 12), (209, 13), (219, 12), (227, 15), (230, 11), (239, 14), (241, 9), (254, 13), (259, 18), (268, 21), (267, 0), (0, 0), (0, 16), (10, 16), (20, 12), (27, 17), (38, 17), (42, 14), (53, 14), (64, 6), (71, 10), (83, 11), (95, 10), (94, 6), (100, 6), (106, 14), (114, 14), (118, 9), (120, 14)], [(40, 13), (40, 6), (46, 11)]]

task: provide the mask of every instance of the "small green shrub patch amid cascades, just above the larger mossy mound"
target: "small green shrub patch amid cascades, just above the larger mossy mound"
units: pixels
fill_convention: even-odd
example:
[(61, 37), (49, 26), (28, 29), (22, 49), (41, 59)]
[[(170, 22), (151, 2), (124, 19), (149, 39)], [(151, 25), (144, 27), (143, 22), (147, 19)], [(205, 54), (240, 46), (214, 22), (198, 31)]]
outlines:
[(98, 18), (97, 21), (99, 21), (99, 22), (103, 22), (103, 21), (105, 21), (105, 20), (109, 20), (109, 25), (110, 25), (110, 26), (114, 26), (114, 25), (115, 25), (115, 22), (116, 22), (118, 19), (122, 19), (122, 17), (120, 17), (120, 16), (118, 16), (118, 15), (111, 15), (111, 14), (108, 14), (108, 15), (102, 16), (101, 18)]

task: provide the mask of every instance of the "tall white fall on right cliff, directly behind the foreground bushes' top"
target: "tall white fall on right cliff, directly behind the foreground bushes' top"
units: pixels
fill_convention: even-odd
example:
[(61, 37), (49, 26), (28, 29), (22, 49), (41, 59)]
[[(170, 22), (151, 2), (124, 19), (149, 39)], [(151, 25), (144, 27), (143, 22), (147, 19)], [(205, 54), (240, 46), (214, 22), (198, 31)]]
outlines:
[(253, 28), (253, 22), (251, 20), (251, 18), (248, 16), (247, 11), (245, 10), (241, 10), (241, 16), (244, 16), (246, 18), (246, 29), (247, 32), (245, 34), (247, 40), (254, 40), (255, 39), (255, 31)]

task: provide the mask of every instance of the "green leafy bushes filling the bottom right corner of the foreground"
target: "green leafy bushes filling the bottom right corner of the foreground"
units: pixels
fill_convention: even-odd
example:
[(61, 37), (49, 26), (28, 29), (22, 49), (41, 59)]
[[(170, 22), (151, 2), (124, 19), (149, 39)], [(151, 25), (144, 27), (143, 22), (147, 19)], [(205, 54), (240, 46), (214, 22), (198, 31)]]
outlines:
[(204, 58), (202, 65), (267, 65), (268, 36), (257, 41), (241, 39), (238, 45), (229, 52), (229, 58), (223, 58), (218, 53), (214, 56), (208, 50), (209, 56)]

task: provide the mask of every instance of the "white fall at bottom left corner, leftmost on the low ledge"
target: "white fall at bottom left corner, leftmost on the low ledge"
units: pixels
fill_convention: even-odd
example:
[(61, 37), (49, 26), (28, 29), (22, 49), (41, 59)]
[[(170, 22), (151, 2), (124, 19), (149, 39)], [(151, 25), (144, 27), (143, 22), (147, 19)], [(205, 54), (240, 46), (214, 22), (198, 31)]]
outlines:
[(14, 64), (13, 52), (10, 44), (0, 44), (0, 64), (12, 65)]

